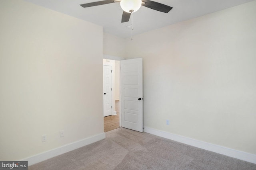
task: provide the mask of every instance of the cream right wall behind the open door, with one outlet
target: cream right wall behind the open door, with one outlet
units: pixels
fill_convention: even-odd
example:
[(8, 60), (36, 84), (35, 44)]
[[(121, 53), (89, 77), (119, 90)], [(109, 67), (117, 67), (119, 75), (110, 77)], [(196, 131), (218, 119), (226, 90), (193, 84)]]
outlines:
[(253, 1), (126, 39), (126, 59), (143, 57), (145, 127), (256, 154), (255, 9)]

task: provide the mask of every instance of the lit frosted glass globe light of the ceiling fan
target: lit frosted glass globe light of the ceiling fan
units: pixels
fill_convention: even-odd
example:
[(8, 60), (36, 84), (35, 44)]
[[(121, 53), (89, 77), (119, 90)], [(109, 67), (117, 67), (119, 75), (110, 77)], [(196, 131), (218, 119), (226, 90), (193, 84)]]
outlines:
[(128, 13), (136, 12), (141, 7), (142, 0), (121, 0), (121, 8)]

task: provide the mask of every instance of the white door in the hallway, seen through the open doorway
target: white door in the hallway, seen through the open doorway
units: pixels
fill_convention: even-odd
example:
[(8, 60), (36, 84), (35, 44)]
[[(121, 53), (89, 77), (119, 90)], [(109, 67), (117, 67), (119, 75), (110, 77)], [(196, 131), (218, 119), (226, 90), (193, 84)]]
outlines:
[(112, 115), (112, 66), (103, 66), (103, 114)]

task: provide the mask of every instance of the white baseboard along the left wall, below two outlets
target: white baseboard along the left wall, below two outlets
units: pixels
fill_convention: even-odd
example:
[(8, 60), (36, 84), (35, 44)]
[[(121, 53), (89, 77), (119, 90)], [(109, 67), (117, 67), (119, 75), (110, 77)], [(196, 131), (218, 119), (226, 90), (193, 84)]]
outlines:
[(43, 153), (31, 156), (31, 157), (25, 158), (22, 161), (28, 161), (28, 166), (30, 166), (30, 165), (36, 164), (38, 162), (42, 162), (44, 160), (53, 158), (54, 156), (58, 156), (60, 154), (66, 153), (66, 152), (70, 152), (74, 149), (84, 147), (86, 145), (89, 145), (91, 143), (100, 141), (100, 140), (105, 139), (105, 138), (106, 138), (106, 134), (101, 133), (99, 135), (83, 139), (81, 141), (77, 141), (77, 142), (74, 142), (74, 143), (56, 148), (56, 149), (48, 150), (46, 152), (43, 152)]

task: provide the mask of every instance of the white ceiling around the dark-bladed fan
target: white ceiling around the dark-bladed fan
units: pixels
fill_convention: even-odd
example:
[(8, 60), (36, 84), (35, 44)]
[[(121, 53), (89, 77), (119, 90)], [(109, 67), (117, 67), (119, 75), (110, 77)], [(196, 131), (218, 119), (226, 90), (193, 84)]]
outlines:
[[(82, 8), (80, 4), (96, 2), (99, 0), (25, 0), (39, 6), (43, 6), (76, 18), (80, 18), (97, 25), (102, 25), (106, 33), (118, 37), (127, 38), (131, 36), (131, 29), (121, 23), (122, 9), (120, 2)], [(173, 9), (168, 13), (162, 13), (142, 6), (134, 12), (133, 35), (144, 33), (153, 29), (189, 20), (212, 12), (244, 4), (253, 0), (154, 0)], [(228, 21), (227, 21), (228, 22)]]

